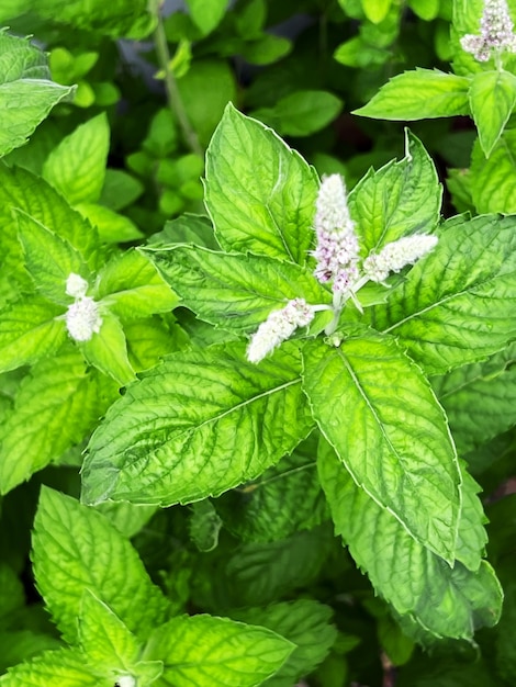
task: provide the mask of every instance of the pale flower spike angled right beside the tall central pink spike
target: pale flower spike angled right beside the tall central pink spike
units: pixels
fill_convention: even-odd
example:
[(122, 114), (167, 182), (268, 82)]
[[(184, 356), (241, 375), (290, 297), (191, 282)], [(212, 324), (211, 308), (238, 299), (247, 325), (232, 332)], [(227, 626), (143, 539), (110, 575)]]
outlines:
[(391, 272), (400, 272), (405, 266), (414, 264), (426, 256), (438, 241), (437, 236), (413, 234), (388, 244), (378, 254), (370, 254), (362, 264), (363, 275), (369, 281), (384, 282)]

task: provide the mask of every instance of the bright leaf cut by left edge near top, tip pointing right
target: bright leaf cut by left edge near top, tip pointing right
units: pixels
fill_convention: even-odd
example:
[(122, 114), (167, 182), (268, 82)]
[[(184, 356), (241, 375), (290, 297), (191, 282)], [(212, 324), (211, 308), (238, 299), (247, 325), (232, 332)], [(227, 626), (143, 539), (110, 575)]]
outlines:
[(0, 156), (23, 145), (72, 87), (51, 80), (46, 55), (0, 31)]

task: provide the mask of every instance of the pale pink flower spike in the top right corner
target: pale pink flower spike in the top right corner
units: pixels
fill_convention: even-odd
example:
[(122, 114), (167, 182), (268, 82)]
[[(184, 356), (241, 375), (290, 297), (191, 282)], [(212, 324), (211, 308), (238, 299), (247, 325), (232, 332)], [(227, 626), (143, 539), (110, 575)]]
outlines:
[(516, 53), (516, 35), (506, 0), (484, 0), (480, 34), (467, 34), (460, 41), (462, 49), (481, 63), (503, 50)]

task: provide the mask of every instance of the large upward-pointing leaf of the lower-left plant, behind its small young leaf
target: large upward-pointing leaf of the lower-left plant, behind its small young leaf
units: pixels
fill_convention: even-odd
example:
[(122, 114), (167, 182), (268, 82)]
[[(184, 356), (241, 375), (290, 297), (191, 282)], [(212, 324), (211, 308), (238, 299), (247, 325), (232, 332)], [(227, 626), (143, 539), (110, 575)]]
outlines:
[(130, 542), (103, 515), (48, 487), (34, 520), (32, 560), (37, 588), (68, 642), (77, 640), (86, 589), (141, 639), (166, 620), (168, 601)]

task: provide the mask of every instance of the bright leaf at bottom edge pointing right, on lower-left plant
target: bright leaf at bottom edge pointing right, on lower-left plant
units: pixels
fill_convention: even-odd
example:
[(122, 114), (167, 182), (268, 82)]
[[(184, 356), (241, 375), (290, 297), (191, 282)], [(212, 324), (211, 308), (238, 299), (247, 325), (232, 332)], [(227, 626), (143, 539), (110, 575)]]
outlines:
[(153, 632), (144, 657), (162, 660), (164, 686), (255, 687), (273, 675), (294, 649), (266, 628), (228, 618), (181, 616)]

